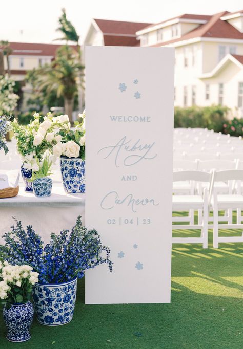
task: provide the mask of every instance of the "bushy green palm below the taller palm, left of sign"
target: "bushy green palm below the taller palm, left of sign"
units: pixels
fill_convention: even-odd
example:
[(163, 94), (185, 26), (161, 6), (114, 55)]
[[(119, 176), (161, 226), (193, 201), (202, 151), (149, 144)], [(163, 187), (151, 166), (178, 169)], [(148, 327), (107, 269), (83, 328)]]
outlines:
[(77, 55), (68, 45), (56, 51), (56, 57), (50, 66), (39, 70), (40, 88), (47, 93), (56, 91), (57, 97), (63, 96), (65, 113), (72, 122), (74, 97), (77, 94), (77, 78), (83, 69)]

